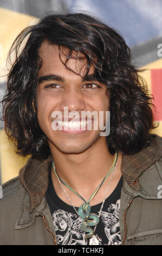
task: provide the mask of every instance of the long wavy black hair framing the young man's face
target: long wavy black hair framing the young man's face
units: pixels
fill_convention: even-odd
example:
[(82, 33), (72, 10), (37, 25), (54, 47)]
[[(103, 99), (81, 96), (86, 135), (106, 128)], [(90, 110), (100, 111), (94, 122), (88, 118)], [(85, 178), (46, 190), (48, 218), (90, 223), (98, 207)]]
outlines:
[(153, 128), (152, 97), (139, 70), (131, 64), (129, 47), (113, 28), (93, 16), (77, 13), (43, 17), (36, 25), (25, 28), (11, 47), (10, 54), (15, 51), (16, 58), (2, 103), (5, 131), (17, 153), (42, 160), (50, 154), (47, 137), (38, 124), (36, 105), (41, 68), (38, 51), (44, 40), (69, 49), (66, 68), (73, 50), (83, 53), (86, 74), (94, 65), (95, 76), (106, 84), (111, 113), (111, 130), (106, 137), (109, 152), (134, 154), (146, 147)]

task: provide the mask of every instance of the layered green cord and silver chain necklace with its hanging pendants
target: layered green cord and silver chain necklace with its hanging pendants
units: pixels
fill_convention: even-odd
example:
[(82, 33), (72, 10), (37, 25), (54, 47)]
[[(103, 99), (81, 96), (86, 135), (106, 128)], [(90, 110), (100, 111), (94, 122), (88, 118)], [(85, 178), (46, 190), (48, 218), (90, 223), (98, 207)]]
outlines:
[[(116, 167), (116, 162), (117, 162), (117, 159), (118, 159), (118, 153), (116, 153), (115, 155), (115, 159), (114, 159), (114, 162), (113, 162), (113, 165), (111, 167), (111, 169), (109, 170), (108, 174), (106, 175), (106, 177), (102, 180), (100, 186), (98, 188), (96, 188), (95, 192), (92, 194), (92, 196), (89, 198), (88, 202), (82, 198), (77, 192), (75, 192), (71, 187), (69, 187), (64, 181), (62, 181), (60, 178), (59, 178), (59, 175), (56, 173), (56, 170), (55, 170), (55, 165), (54, 165), (54, 161), (52, 163), (53, 165), (53, 170), (54, 170), (54, 173), (55, 175), (57, 176), (57, 179), (59, 180), (59, 183), (64, 191), (64, 193), (66, 194), (70, 204), (72, 204), (75, 212), (77, 215), (79, 215), (80, 217), (83, 218), (83, 222), (82, 222), (82, 229), (83, 231), (86, 231), (88, 232), (88, 234), (86, 234), (85, 236), (85, 240), (87, 240), (87, 238), (90, 238), (90, 241), (89, 241), (89, 244), (90, 245), (99, 245), (99, 240), (96, 239), (96, 237), (94, 236), (94, 232), (95, 232), (95, 229), (96, 229), (96, 225), (99, 223), (99, 218), (100, 218), (100, 214), (101, 214), (101, 211), (102, 211), (102, 208), (103, 208), (103, 204), (105, 203), (105, 198), (106, 198), (106, 195), (107, 195), (107, 192), (108, 192), (108, 188), (109, 188), (109, 185), (112, 181), (112, 178), (113, 178), (113, 174), (114, 174), (114, 171), (115, 171), (115, 167)], [(95, 194), (99, 191), (99, 188), (101, 187), (101, 185), (103, 184), (103, 182), (108, 178), (108, 176), (111, 174), (113, 170), (113, 173), (112, 173), (112, 177), (111, 179), (109, 180), (109, 184), (108, 184), (108, 188), (107, 188), (107, 191), (105, 193), (105, 196), (104, 196), (104, 199), (103, 199), (103, 202), (102, 202), (102, 205), (101, 205), (101, 209), (99, 211), (99, 216), (96, 215), (96, 214), (93, 214), (90, 212), (90, 200), (95, 196)], [(72, 201), (70, 200), (70, 198), (68, 197), (68, 194), (67, 192), (64, 190), (61, 182), (66, 185), (71, 191), (73, 191), (75, 194), (77, 194), (77, 196), (79, 196), (82, 200), (85, 201), (85, 203), (83, 203), (80, 207), (79, 207), (79, 210), (77, 212), (75, 206), (73, 205)], [(91, 227), (92, 226), (95, 226), (94, 229), (92, 229)]]

